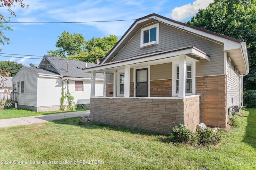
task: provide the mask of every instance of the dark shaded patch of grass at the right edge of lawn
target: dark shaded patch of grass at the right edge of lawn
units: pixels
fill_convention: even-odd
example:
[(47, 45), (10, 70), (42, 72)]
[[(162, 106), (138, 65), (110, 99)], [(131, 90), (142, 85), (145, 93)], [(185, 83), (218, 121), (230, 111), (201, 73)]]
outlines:
[(247, 117), (247, 126), (244, 135), (244, 143), (256, 148), (256, 109), (247, 109), (249, 115)]

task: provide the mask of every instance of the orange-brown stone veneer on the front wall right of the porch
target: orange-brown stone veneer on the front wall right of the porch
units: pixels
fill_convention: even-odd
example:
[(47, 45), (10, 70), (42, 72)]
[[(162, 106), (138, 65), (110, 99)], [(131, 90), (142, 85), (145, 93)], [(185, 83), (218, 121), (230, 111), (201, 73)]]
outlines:
[(226, 128), (227, 76), (196, 77), (196, 94), (201, 94), (201, 122)]

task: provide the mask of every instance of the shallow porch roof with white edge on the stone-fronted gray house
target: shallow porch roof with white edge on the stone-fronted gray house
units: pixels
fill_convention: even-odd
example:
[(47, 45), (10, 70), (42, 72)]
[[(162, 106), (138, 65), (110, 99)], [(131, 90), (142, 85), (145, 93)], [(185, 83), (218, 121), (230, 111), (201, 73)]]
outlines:
[(144, 55), (138, 55), (131, 57), (129, 59), (124, 59), (120, 61), (114, 61), (110, 63), (99, 64), (96, 66), (91, 66), (83, 68), (86, 72), (96, 71), (96, 72), (114, 72), (111, 68), (124, 67), (124, 65), (131, 65), (137, 63), (145, 63), (152, 61), (160, 61), (160, 63), (166, 63), (166, 59), (171, 57), (176, 57), (179, 55), (186, 55), (196, 61), (200, 59), (206, 59), (210, 61), (210, 55), (204, 53), (203, 51), (197, 49), (196, 47), (183, 47), (178, 49), (172, 49), (168, 51), (156, 51), (153, 53), (148, 53)]

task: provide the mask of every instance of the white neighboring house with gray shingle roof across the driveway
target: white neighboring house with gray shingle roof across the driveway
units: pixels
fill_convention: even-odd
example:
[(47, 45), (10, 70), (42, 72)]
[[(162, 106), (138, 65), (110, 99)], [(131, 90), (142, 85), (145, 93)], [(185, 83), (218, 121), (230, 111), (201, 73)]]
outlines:
[[(12, 79), (18, 107), (34, 111), (60, 109), (60, 98), (68, 92), (74, 104), (90, 104), (91, 73), (82, 68), (97, 64), (45, 55), (37, 68), (23, 66)], [(103, 96), (103, 74), (95, 79), (96, 96)], [(69, 102), (65, 98), (64, 105)]]

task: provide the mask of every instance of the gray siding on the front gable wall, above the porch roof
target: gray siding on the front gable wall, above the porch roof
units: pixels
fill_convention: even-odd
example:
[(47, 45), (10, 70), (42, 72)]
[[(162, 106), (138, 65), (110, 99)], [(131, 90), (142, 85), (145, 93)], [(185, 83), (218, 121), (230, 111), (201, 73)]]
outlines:
[(196, 76), (224, 74), (224, 51), (222, 45), (164, 23), (159, 25), (159, 44), (140, 48), (140, 31), (138, 31), (112, 61), (120, 61), (154, 51), (188, 46), (194, 46), (211, 56), (210, 61), (201, 60), (196, 62)]

